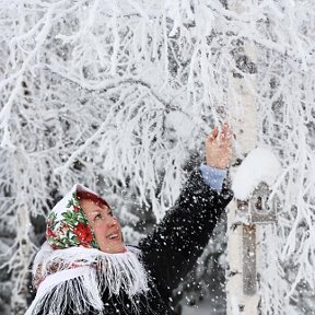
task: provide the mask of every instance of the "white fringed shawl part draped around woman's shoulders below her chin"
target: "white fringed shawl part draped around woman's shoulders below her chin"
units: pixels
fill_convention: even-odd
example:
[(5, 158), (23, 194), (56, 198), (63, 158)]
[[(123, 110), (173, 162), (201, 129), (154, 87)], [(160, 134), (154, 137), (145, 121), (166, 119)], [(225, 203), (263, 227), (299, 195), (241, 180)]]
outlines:
[[(25, 315), (43, 311), (43, 314), (63, 315), (69, 301), (74, 314), (84, 313), (90, 307), (101, 313), (104, 310), (102, 290), (105, 289), (109, 298), (124, 291), (137, 312), (137, 295), (149, 291), (149, 277), (139, 255), (141, 252), (131, 246), (126, 253), (107, 254), (84, 247), (54, 250), (47, 242), (44, 243), (35, 257), (33, 276), (42, 270), (45, 280)], [(51, 273), (49, 270), (54, 266), (58, 269)]]

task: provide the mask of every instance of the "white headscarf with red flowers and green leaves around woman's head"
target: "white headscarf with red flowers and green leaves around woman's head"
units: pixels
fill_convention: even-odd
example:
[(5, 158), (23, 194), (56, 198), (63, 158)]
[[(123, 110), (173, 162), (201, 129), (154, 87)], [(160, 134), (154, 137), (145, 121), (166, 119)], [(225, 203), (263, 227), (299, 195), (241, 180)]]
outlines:
[(82, 185), (74, 185), (47, 218), (46, 238), (54, 249), (71, 246), (98, 248), (93, 229), (78, 200), (77, 190), (91, 192)]

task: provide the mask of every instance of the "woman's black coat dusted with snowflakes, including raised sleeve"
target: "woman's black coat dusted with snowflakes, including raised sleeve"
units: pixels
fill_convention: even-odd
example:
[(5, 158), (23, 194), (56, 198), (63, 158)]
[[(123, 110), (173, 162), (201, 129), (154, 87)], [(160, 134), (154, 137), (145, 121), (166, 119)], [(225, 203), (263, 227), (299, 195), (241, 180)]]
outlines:
[[(203, 183), (199, 171), (191, 173), (174, 207), (139, 244), (142, 262), (152, 281), (149, 294), (140, 295), (138, 299), (137, 314), (173, 314), (170, 305), (172, 290), (176, 289), (180, 279), (192, 269), (208, 244), (222, 210), (231, 199), (232, 191), (229, 188), (223, 187), (221, 194), (218, 194)], [(136, 314), (124, 292), (119, 296), (108, 299), (105, 291), (103, 301), (104, 315)], [(68, 315), (78, 314), (71, 311), (70, 301), (67, 304)], [(92, 310), (84, 313), (90, 314), (95, 313)]]

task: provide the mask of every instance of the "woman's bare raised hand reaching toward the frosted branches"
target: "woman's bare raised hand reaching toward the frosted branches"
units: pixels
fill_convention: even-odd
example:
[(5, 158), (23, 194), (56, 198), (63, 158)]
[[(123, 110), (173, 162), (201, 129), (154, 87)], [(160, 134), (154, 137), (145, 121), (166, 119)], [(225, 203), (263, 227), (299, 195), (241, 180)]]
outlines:
[(207, 165), (215, 168), (229, 167), (232, 154), (232, 129), (225, 122), (221, 131), (215, 127), (206, 139)]

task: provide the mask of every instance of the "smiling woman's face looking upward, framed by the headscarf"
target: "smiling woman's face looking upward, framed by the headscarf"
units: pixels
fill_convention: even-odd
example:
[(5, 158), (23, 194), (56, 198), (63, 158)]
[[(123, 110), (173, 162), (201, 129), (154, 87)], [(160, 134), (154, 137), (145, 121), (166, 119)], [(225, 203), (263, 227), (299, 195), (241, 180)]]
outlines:
[(112, 210), (89, 199), (80, 200), (102, 252), (117, 254), (126, 252), (121, 226)]

